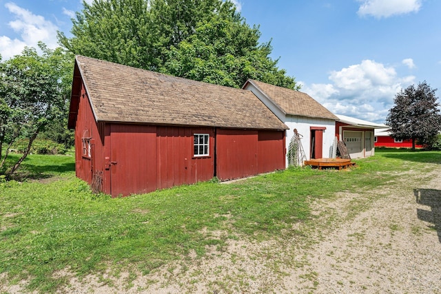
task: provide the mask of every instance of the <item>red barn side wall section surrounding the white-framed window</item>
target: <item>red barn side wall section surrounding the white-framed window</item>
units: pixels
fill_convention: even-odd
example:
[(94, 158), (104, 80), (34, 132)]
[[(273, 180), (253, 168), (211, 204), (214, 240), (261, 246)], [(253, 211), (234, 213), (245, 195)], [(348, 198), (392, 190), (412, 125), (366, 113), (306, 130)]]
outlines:
[[(209, 156), (194, 156), (194, 134), (209, 134)], [(112, 196), (147, 193), (214, 177), (214, 130), (107, 123), (105, 181)]]

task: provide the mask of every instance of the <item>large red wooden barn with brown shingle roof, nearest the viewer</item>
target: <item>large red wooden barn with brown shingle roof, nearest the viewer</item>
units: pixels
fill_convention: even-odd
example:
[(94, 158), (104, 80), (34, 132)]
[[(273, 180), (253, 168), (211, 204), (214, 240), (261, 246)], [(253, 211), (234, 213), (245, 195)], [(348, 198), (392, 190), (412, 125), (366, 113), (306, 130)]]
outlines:
[(285, 129), (252, 92), (76, 56), (76, 176), (112, 196), (285, 168)]

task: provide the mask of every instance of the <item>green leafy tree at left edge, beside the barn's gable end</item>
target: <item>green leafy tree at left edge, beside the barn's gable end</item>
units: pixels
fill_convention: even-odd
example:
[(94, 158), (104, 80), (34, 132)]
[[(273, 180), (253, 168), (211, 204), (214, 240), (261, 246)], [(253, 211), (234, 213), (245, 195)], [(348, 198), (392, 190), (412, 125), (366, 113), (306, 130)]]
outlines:
[[(28, 156), (37, 135), (50, 123), (62, 120), (70, 98), (72, 55), (39, 43), (21, 55), (0, 62), (0, 171), (10, 176)], [(18, 138), (27, 139), (23, 156), (5, 171), (8, 151)], [(3, 145), (7, 144), (2, 157)]]

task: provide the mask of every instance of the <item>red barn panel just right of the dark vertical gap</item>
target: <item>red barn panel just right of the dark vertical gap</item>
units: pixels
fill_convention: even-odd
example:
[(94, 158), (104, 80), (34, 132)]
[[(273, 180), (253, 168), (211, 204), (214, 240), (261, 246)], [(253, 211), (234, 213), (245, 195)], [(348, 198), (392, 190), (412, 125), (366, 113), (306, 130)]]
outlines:
[(216, 175), (220, 180), (258, 174), (258, 131), (218, 129)]

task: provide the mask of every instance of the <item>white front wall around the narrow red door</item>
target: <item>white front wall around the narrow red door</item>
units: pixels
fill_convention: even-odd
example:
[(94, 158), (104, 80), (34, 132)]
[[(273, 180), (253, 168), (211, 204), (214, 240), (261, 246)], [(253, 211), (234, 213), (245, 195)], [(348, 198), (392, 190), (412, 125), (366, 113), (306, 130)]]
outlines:
[[(305, 150), (307, 160), (310, 157), (311, 145), (311, 129), (310, 127), (326, 127), (323, 132), (323, 158), (330, 158), (332, 155), (332, 144), (336, 136), (336, 121), (325, 118), (307, 118), (302, 116), (286, 116), (283, 121), (289, 127), (287, 130), (286, 148), (288, 149), (289, 142), (294, 136), (294, 129), (297, 129), (298, 134), (302, 135), (302, 146)], [(288, 162), (287, 165), (288, 166)]]

